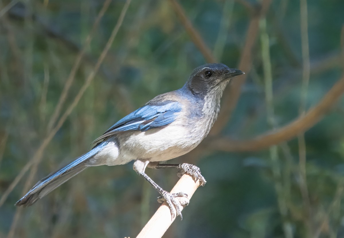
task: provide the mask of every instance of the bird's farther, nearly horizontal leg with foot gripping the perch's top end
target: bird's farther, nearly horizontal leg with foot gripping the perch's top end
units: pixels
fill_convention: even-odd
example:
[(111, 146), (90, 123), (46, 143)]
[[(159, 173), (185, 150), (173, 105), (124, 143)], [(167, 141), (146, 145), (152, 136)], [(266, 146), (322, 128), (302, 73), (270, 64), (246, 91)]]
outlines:
[(191, 175), (191, 177), (193, 177), (193, 179), (195, 181), (197, 181), (198, 179), (200, 180), (200, 184), (202, 186), (205, 185), (205, 183), (207, 181), (205, 181), (204, 177), (201, 175), (201, 170), (200, 168), (198, 168), (195, 165), (191, 165), (190, 163), (182, 163), (182, 164), (178, 164), (178, 163), (174, 163), (174, 164), (149, 164), (148, 167), (150, 168), (154, 168), (154, 169), (161, 169), (161, 168), (177, 168), (177, 169), (181, 169), (177, 172), (178, 177), (182, 177), (182, 175), (184, 173), (187, 173), (189, 175)]

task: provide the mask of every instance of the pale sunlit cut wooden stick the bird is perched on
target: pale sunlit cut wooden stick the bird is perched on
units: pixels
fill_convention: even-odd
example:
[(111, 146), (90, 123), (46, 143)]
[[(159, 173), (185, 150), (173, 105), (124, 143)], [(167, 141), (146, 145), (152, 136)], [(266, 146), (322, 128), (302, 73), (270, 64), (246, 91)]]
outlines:
[[(196, 189), (200, 187), (200, 182), (196, 182), (193, 178), (184, 174), (177, 184), (172, 188), (171, 193), (184, 192), (187, 194), (187, 198), (190, 200)], [(183, 206), (185, 207), (185, 206)], [(166, 230), (171, 226), (176, 217), (172, 218), (170, 208), (164, 202), (152, 218), (143, 227), (140, 234), (136, 238), (160, 238), (164, 235)]]

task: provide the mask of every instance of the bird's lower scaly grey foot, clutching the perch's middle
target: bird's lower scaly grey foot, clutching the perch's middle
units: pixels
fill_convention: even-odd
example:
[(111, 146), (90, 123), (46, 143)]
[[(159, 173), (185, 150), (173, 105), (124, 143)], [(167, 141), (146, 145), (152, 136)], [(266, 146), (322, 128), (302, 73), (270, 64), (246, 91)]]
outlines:
[(171, 194), (169, 192), (163, 191), (162, 197), (158, 197), (158, 202), (163, 203), (164, 201), (166, 201), (167, 205), (170, 207), (172, 218), (174, 218), (175, 216), (180, 216), (180, 220), (182, 220), (182, 206), (189, 204), (187, 194), (184, 194), (184, 192)]

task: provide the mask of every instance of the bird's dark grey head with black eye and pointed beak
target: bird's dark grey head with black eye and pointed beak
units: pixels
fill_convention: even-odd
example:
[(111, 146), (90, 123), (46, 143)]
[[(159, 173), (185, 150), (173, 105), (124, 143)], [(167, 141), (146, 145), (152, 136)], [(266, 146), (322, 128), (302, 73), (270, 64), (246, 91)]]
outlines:
[(184, 87), (188, 87), (196, 94), (224, 89), (230, 79), (243, 73), (238, 69), (230, 69), (222, 63), (206, 64), (194, 69)]

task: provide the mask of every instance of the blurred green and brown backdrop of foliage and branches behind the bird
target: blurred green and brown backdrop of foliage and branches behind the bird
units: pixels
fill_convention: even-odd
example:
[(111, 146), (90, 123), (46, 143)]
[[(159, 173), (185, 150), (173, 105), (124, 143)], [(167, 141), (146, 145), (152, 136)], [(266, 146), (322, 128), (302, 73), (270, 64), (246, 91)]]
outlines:
[[(0, 0), (0, 237), (135, 237), (159, 205), (132, 163), (13, 205), (206, 62), (246, 75), (211, 135), (170, 161), (207, 184), (164, 237), (344, 237), (343, 24), (342, 0)], [(147, 173), (166, 190), (178, 180)]]

